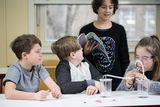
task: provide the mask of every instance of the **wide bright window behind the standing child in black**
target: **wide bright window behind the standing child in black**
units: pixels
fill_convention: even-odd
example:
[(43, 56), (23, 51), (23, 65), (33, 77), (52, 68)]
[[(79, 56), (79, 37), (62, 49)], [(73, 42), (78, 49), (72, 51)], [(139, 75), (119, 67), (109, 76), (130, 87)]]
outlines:
[[(36, 1), (34, 4), (37, 12), (34, 13), (37, 13), (35, 19), (37, 27), (35, 28), (43, 44), (43, 53), (51, 52), (50, 46), (53, 41), (66, 35), (78, 36), (82, 26), (97, 19), (97, 15), (92, 11), (91, 1), (77, 4), (46, 3), (47, 5)], [(111, 20), (125, 27), (129, 51), (132, 52), (139, 39), (156, 34), (156, 5), (124, 4), (119, 5)]]

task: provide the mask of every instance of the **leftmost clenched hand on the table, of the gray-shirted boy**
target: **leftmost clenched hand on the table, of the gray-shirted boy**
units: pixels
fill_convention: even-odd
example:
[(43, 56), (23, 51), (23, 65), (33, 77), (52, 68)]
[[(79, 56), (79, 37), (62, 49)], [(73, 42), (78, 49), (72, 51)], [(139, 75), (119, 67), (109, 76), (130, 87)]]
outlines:
[(48, 95), (49, 95), (49, 90), (47, 91), (41, 90), (38, 91), (34, 97), (36, 100), (45, 101)]

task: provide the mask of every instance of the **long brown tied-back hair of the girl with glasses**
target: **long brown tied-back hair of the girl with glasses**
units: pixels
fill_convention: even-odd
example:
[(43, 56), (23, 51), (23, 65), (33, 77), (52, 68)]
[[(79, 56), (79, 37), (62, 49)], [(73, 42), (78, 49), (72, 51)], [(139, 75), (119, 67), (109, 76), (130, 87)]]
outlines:
[(153, 76), (152, 80), (157, 81), (160, 78), (160, 41), (158, 36), (152, 35), (141, 39), (135, 47), (135, 54), (138, 47), (145, 47), (146, 51), (153, 56), (155, 64), (151, 75)]

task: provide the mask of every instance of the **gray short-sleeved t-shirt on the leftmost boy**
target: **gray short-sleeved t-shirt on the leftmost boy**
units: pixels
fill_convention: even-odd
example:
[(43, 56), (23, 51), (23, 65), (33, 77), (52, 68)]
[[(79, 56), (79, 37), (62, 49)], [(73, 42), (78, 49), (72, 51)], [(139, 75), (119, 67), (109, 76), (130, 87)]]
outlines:
[(16, 84), (16, 90), (25, 92), (37, 92), (39, 87), (39, 78), (44, 81), (49, 76), (47, 70), (40, 64), (33, 66), (31, 71), (28, 72), (22, 68), (19, 61), (14, 62), (6, 73), (3, 85), (7, 81)]

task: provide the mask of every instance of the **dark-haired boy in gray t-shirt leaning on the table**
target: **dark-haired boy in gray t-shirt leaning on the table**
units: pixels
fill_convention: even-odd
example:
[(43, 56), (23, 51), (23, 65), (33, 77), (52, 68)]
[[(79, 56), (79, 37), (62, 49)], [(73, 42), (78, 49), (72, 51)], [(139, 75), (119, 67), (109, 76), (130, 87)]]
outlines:
[(59, 98), (61, 91), (46, 69), (40, 64), (41, 41), (35, 35), (17, 37), (10, 47), (19, 59), (6, 73), (3, 81), (7, 99), (46, 100), (49, 90), (38, 91), (39, 78), (49, 87), (52, 96)]

